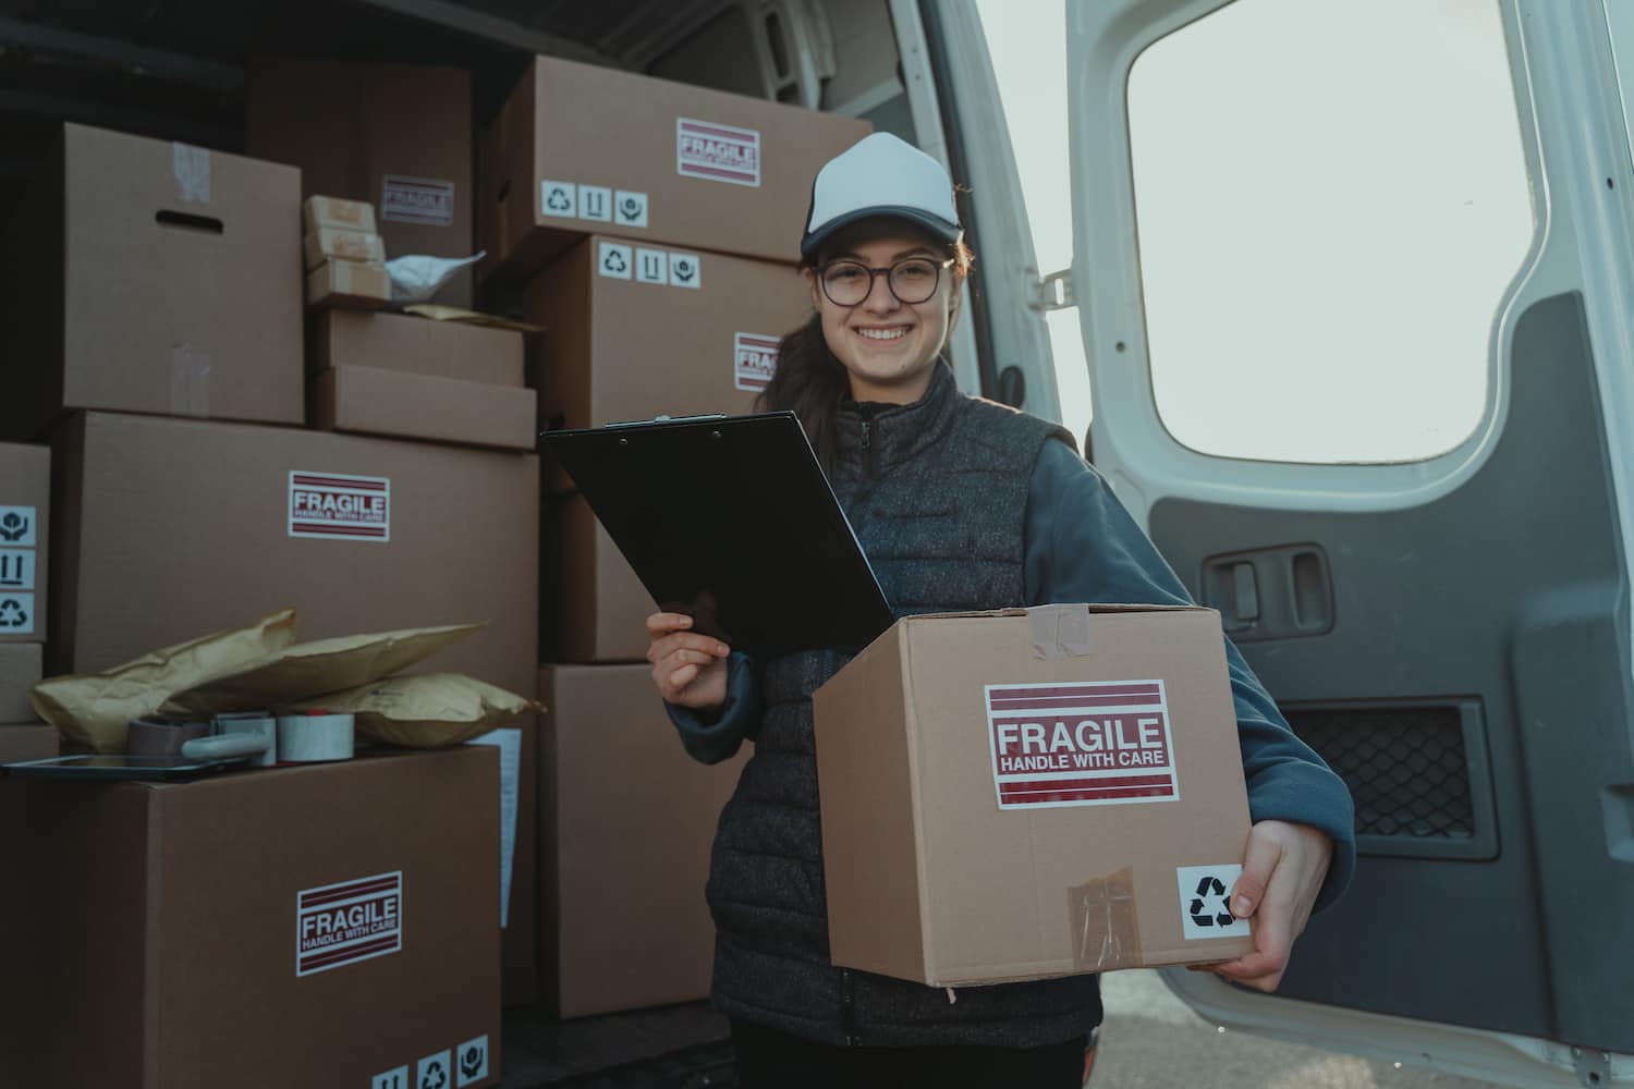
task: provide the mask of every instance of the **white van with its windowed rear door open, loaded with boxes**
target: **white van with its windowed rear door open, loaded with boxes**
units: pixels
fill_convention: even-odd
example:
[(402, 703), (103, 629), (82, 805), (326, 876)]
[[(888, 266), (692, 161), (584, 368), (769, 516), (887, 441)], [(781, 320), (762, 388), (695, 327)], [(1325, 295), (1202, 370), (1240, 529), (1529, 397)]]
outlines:
[(547, 52), (943, 158), (979, 255), (961, 384), (1060, 418), (1046, 313), (1075, 305), (1095, 465), (1356, 797), (1355, 883), (1281, 991), (1170, 986), (1327, 1048), (1634, 1082), (1634, 0), (1018, 2), (1067, 57), (1047, 278), (1008, 134), (1060, 104), (1007, 116), (974, 0), (219, 7), (8, 5), (0, 131), (230, 145), (243, 57), (324, 24), (472, 67), (490, 114)]

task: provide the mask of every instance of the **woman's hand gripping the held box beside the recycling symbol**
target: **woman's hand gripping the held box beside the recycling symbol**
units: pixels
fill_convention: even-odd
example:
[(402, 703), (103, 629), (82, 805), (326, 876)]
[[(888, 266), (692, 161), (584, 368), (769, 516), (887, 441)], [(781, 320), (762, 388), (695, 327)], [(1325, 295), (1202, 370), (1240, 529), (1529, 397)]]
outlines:
[(1248, 833), (1242, 877), (1230, 891), (1230, 913), (1239, 919), (1257, 919), (1255, 949), (1237, 960), (1201, 970), (1257, 991), (1275, 991), (1288, 970), (1294, 939), (1306, 931), (1332, 859), (1333, 841), (1324, 831), (1288, 821), (1255, 825)]

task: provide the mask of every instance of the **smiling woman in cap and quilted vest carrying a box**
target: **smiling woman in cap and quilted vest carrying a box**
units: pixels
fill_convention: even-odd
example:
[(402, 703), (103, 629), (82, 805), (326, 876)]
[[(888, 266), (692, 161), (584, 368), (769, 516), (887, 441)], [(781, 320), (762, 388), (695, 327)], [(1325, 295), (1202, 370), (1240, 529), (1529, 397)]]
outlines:
[[(815, 313), (783, 340), (761, 405), (799, 415), (899, 616), (1190, 604), (1065, 431), (956, 389), (943, 349), (971, 251), (936, 160), (889, 134), (830, 160), (801, 253)], [(846, 656), (752, 661), (688, 627), (647, 619), (681, 743), (706, 764), (755, 743), (708, 883), (712, 999), (743, 1089), (1075, 1089), (1096, 976), (949, 993), (830, 965), (810, 697)], [(1271, 991), (1306, 919), (1350, 880), (1351, 800), (1229, 640), (1226, 653), (1253, 816), (1230, 909), (1257, 919), (1257, 949), (1214, 970)]]

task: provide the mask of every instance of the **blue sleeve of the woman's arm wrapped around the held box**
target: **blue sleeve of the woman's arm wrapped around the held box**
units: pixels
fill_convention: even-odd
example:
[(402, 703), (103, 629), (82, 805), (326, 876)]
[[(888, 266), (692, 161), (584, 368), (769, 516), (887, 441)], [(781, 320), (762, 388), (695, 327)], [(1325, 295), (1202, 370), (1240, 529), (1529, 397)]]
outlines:
[[(1028, 604), (1193, 604), (1106, 480), (1064, 442), (1046, 442), (1033, 469), (1025, 542)], [(1350, 790), (1294, 736), (1230, 638), (1226, 666), (1250, 818), (1310, 825), (1333, 841), (1333, 862), (1315, 903), (1320, 911), (1345, 891), (1356, 869)]]

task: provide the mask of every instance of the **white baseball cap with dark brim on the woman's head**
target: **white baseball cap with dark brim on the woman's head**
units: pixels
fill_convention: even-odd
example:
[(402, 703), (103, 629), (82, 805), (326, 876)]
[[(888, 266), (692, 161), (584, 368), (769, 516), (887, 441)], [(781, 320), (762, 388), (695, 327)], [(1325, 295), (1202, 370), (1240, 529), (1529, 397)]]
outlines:
[(953, 206), (953, 178), (935, 158), (889, 132), (863, 137), (817, 171), (801, 256), (817, 260), (817, 250), (837, 230), (874, 216), (905, 219), (949, 245), (964, 235)]

